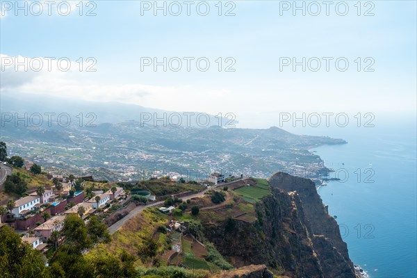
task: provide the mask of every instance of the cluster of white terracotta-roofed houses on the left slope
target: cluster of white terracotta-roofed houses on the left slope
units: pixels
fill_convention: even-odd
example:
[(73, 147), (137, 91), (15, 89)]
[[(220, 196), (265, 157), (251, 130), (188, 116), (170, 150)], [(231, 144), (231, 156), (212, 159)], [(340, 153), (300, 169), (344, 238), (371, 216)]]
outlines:
[[(40, 213), (31, 215), (33, 214), (33, 211), (40, 211), (44, 209), (44, 211), (53, 215), (49, 220), (33, 228), (33, 236), (22, 237), (23, 241), (26, 241), (35, 249), (44, 250), (44, 247), (47, 246), (46, 242), (51, 237), (51, 234), (54, 231), (60, 231), (63, 228), (63, 222), (66, 215), (70, 213), (79, 214), (80, 206), (84, 208), (83, 215), (81, 215), (81, 218), (84, 219), (88, 214), (95, 212), (97, 208), (106, 206), (106, 204), (111, 202), (111, 200), (124, 195), (123, 188), (117, 187), (114, 194), (111, 190), (104, 193), (101, 191), (101, 194), (97, 194), (96, 196), (100, 197), (98, 202), (95, 199), (96, 196), (91, 199), (84, 200), (83, 191), (77, 191), (72, 197), (68, 196), (67, 199), (57, 198), (57, 194), (68, 195), (72, 188), (72, 183), (62, 183), (62, 185), (63, 188), (60, 189), (59, 192), (56, 188), (51, 188), (51, 190), (45, 190), (42, 195), (31, 193), (31, 195), (22, 197), (15, 201), (15, 207), (12, 209), (11, 214), (13, 215), (13, 218), (16, 219), (17, 224), (14, 224), (17, 229), (29, 229), (29, 227), (33, 226), (35, 222), (40, 222), (42, 219)], [(66, 209), (67, 204), (70, 204), (70, 202), (75, 205)], [(49, 206), (47, 204), (49, 204)]]

